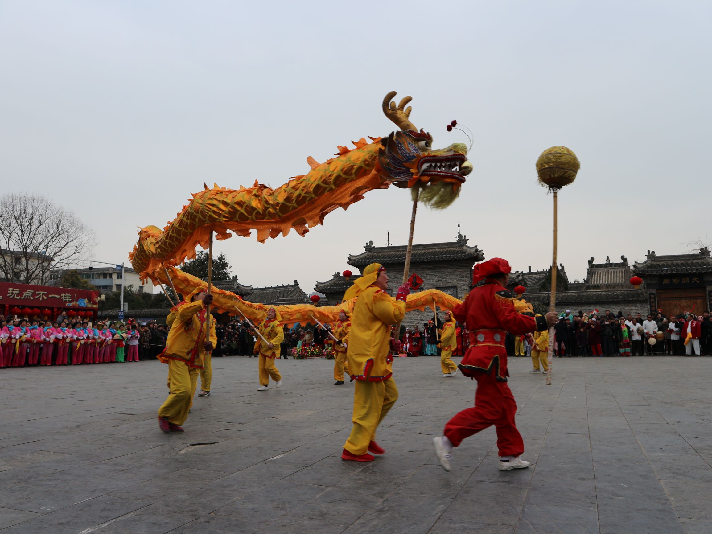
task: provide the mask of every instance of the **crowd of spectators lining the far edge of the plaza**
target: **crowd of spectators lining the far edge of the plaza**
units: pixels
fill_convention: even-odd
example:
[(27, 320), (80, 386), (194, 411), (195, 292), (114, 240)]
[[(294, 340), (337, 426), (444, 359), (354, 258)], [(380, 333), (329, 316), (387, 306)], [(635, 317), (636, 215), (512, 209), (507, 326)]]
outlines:
[[(315, 345), (323, 349), (333, 344), (328, 323), (324, 328), (320, 325), (296, 325), (293, 328), (285, 325), (283, 328), (282, 357), (288, 357), (291, 349), (301, 346)], [(442, 322), (437, 315), (423, 323), (422, 329), (419, 325), (402, 327), (399, 336), (401, 352), (412, 356), (439, 355), (441, 328)], [(137, 353), (136, 360), (154, 360), (166, 345), (168, 330), (167, 325), (155, 320), (140, 324), (128, 320), (127, 324), (106, 321), (91, 325), (87, 320), (65, 315), (46, 323), (0, 315), (0, 367), (122, 362), (125, 360), (124, 347), (131, 345), (137, 345), (137, 351), (133, 351)], [(554, 331), (554, 355), (557, 357), (712, 354), (712, 320), (708, 311), (700, 316), (686, 313), (671, 317), (658, 311), (643, 317), (640, 313), (625, 316), (620, 311), (612, 313), (610, 310), (601, 314), (579, 311), (573, 315), (566, 310), (560, 314)], [(217, 323), (216, 337), (213, 351), (216, 357), (254, 355), (257, 337), (247, 321)], [(110, 338), (114, 346), (103, 355), (99, 347), (109, 347), (107, 340)], [(468, 347), (466, 325), (456, 323), (456, 340), (454, 355), (462, 356)], [(80, 347), (81, 342), (87, 347)], [(40, 345), (36, 346), (38, 343)], [(90, 345), (97, 348), (90, 350)], [(532, 345), (531, 336), (506, 336), (508, 355), (528, 356)], [(126, 352), (130, 354), (132, 350), (128, 348)], [(89, 357), (89, 353), (95, 355)]]

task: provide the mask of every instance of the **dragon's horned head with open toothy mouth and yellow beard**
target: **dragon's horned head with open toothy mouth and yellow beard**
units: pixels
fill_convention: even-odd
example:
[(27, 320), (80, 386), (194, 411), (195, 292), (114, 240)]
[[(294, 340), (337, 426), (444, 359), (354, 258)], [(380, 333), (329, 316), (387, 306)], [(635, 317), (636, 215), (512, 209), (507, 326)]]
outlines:
[(405, 106), (412, 98), (407, 96), (396, 105), (391, 102), (395, 95), (395, 91), (386, 95), (383, 112), (400, 130), (382, 140), (380, 166), (397, 187), (418, 187), (424, 192), (431, 189), (431, 196), (433, 189), (437, 195), (449, 191), (454, 200), (465, 177), (472, 171), (466, 145), (454, 143), (434, 149), (431, 135), (418, 130), (408, 118), (412, 108)]

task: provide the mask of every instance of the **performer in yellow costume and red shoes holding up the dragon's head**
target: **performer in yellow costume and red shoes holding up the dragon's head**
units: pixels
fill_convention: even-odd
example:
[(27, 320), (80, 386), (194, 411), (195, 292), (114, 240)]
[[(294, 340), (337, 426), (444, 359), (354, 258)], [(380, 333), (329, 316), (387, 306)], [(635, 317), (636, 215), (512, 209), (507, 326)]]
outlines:
[(344, 295), (344, 300), (358, 297), (351, 316), (347, 341), (347, 362), (354, 388), (353, 427), (341, 454), (343, 460), (373, 461), (369, 454), (384, 454), (375, 442), (376, 428), (398, 399), (392, 378), (391, 325), (405, 315), (407, 284), (398, 288), (396, 298), (386, 293), (388, 275), (380, 263), (363, 270)]

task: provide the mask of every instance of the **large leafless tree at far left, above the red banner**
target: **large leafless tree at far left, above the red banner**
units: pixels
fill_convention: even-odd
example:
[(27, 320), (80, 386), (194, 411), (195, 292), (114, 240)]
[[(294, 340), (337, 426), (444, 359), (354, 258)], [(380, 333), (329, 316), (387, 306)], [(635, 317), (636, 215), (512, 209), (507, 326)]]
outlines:
[(0, 197), (0, 272), (7, 281), (43, 285), (50, 271), (80, 264), (95, 238), (80, 219), (46, 197)]

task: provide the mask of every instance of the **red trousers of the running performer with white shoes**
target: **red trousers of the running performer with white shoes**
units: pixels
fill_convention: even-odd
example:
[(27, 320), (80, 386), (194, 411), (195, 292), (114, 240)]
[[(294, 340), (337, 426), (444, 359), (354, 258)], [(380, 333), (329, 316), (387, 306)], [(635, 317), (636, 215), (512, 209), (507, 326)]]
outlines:
[(445, 425), (445, 436), (454, 446), (459, 446), (466, 437), (494, 425), (499, 456), (519, 456), (524, 452), (524, 441), (514, 424), (517, 403), (511, 389), (507, 382), (498, 382), (493, 373), (478, 373), (475, 379), (475, 406), (450, 419)]

